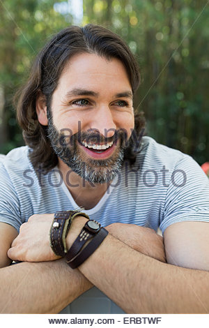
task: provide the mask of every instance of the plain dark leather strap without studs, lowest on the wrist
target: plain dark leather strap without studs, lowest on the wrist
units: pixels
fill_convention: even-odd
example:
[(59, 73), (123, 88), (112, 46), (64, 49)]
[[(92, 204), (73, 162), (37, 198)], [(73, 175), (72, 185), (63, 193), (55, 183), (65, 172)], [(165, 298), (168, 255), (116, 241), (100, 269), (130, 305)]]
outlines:
[(76, 269), (77, 267), (79, 267), (79, 265), (84, 263), (84, 261), (86, 261), (87, 258), (89, 258), (93, 254), (93, 252), (98, 248), (98, 246), (102, 244), (102, 241), (104, 240), (104, 238), (107, 237), (108, 233), (109, 232), (106, 229), (101, 228), (98, 234), (95, 234), (95, 237), (93, 237), (90, 243), (84, 249), (82, 249), (82, 251), (79, 252), (79, 254), (75, 258), (73, 258), (69, 262), (67, 261), (68, 265), (72, 269)]

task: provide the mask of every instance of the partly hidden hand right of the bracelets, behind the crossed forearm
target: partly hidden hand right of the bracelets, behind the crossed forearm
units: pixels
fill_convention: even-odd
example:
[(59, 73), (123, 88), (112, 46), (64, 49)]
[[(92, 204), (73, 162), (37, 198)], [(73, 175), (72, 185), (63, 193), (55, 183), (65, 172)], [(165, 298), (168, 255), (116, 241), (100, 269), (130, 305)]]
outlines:
[(134, 224), (113, 223), (105, 227), (111, 235), (123, 241), (135, 251), (167, 262), (163, 238), (155, 230)]

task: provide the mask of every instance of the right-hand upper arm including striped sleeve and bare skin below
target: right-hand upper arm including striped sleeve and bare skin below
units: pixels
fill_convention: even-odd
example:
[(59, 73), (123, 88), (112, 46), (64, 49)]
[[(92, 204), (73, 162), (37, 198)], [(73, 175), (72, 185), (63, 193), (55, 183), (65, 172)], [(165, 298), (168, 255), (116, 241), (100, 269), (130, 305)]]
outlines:
[(209, 180), (185, 155), (175, 167), (175, 181), (167, 189), (160, 223), (167, 262), (209, 271)]

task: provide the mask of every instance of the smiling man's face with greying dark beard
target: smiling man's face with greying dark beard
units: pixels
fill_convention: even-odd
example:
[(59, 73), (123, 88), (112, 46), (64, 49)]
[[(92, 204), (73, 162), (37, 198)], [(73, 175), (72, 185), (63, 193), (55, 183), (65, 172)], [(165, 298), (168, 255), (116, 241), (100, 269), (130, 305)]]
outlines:
[(72, 57), (48, 110), (48, 135), (59, 162), (93, 183), (111, 181), (123, 163), (124, 133), (118, 131), (129, 138), (134, 127), (132, 89), (121, 61), (86, 53)]

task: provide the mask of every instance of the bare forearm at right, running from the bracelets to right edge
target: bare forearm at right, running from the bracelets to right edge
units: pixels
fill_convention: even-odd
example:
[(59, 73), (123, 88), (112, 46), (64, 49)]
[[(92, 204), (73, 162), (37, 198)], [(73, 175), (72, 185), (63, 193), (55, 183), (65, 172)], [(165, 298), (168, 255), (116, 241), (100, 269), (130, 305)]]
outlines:
[(164, 264), (110, 235), (79, 270), (127, 313), (208, 313), (209, 273)]

